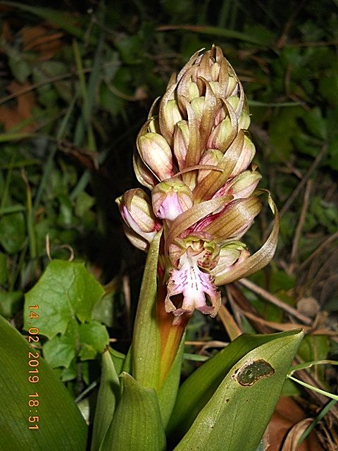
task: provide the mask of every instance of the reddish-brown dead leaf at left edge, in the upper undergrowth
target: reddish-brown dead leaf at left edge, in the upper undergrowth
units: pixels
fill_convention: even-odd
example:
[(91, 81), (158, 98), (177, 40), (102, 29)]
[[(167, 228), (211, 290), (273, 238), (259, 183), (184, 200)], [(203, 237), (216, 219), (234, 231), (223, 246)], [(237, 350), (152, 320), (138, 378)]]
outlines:
[[(27, 89), (30, 87), (30, 83), (25, 82), (20, 84), (18, 82), (11, 82), (8, 85), (8, 92), (15, 94), (15, 92), (20, 92), (21, 89)], [(15, 125), (20, 124), (21, 121), (25, 119), (30, 119), (32, 117), (32, 109), (36, 105), (34, 92), (26, 92), (21, 94), (16, 99), (17, 104), (8, 108), (7, 106), (0, 106), (0, 123), (4, 125), (5, 130), (11, 130)], [(37, 123), (30, 123), (21, 128), (22, 132), (30, 132), (37, 126)]]

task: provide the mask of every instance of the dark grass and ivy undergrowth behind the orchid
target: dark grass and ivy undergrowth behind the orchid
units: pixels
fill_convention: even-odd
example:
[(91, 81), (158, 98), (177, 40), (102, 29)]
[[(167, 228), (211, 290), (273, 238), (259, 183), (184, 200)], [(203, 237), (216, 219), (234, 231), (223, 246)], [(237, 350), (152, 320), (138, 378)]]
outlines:
[[(337, 0), (49, 4), (0, 2), (0, 313), (20, 329), (23, 293), (49, 257), (74, 253), (106, 284), (98, 317), (126, 349), (144, 255), (125, 240), (115, 198), (137, 186), (132, 152), (152, 102), (214, 43), (244, 85), (261, 186), (282, 214), (275, 259), (251, 280), (332, 332), (309, 335), (304, 359), (337, 358)], [(271, 221), (264, 209), (252, 251)], [(233, 290), (242, 330), (275, 330), (241, 316)], [(264, 321), (296, 321), (242, 292)], [(201, 316), (190, 335), (227, 340)], [(313, 377), (337, 391), (334, 370)]]

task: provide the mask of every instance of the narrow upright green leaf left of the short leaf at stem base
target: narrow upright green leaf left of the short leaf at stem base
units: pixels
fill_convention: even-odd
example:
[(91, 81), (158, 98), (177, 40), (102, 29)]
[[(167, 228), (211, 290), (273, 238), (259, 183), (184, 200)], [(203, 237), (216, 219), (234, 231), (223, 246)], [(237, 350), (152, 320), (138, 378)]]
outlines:
[(104, 435), (113, 419), (115, 405), (120, 399), (120, 381), (108, 348), (102, 354), (101, 362), (101, 381), (95, 408), (92, 451), (100, 449)]

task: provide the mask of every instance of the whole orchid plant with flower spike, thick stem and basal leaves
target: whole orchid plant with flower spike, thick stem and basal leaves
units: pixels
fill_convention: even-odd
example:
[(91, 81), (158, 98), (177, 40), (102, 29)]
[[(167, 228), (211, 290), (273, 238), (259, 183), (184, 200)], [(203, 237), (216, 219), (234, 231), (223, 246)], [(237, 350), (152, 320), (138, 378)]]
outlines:
[[(125, 235), (148, 257), (118, 382), (122, 395), (96, 440), (102, 450), (254, 451), (259, 444), (301, 332), (241, 335), (179, 388), (184, 330), (194, 310), (214, 318), (222, 304), (218, 287), (263, 268), (277, 245), (278, 213), (270, 194), (256, 189), (261, 174), (252, 163), (249, 124), (243, 87), (213, 46), (170, 78), (137, 136), (134, 172), (148, 192), (134, 188), (117, 203)], [(251, 255), (242, 237), (262, 209), (261, 194), (275, 222)], [(244, 393), (250, 402), (242, 407), (231, 403), (242, 412), (237, 419), (224, 403), (253, 384), (259, 393), (268, 386), (272, 392), (249, 438), (243, 430), (262, 402), (258, 392)], [(104, 383), (100, 390), (107, 390)], [(237, 432), (229, 438), (231, 428)]]

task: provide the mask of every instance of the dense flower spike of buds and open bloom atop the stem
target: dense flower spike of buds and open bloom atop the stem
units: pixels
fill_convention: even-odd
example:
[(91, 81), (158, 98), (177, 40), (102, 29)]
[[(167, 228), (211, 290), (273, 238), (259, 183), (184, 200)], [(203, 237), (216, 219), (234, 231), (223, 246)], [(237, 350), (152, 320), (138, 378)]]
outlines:
[[(278, 226), (261, 254), (250, 257), (239, 241), (261, 211), (255, 192), (261, 175), (249, 168), (256, 152), (249, 123), (242, 85), (221, 49), (212, 47), (170, 78), (137, 137), (134, 170), (151, 200), (130, 190), (118, 203), (137, 247), (146, 250), (163, 227), (161, 283), (165, 310), (175, 316), (194, 309), (215, 316), (215, 280), (247, 276), (275, 252)], [(270, 205), (275, 208), (271, 199)]]

